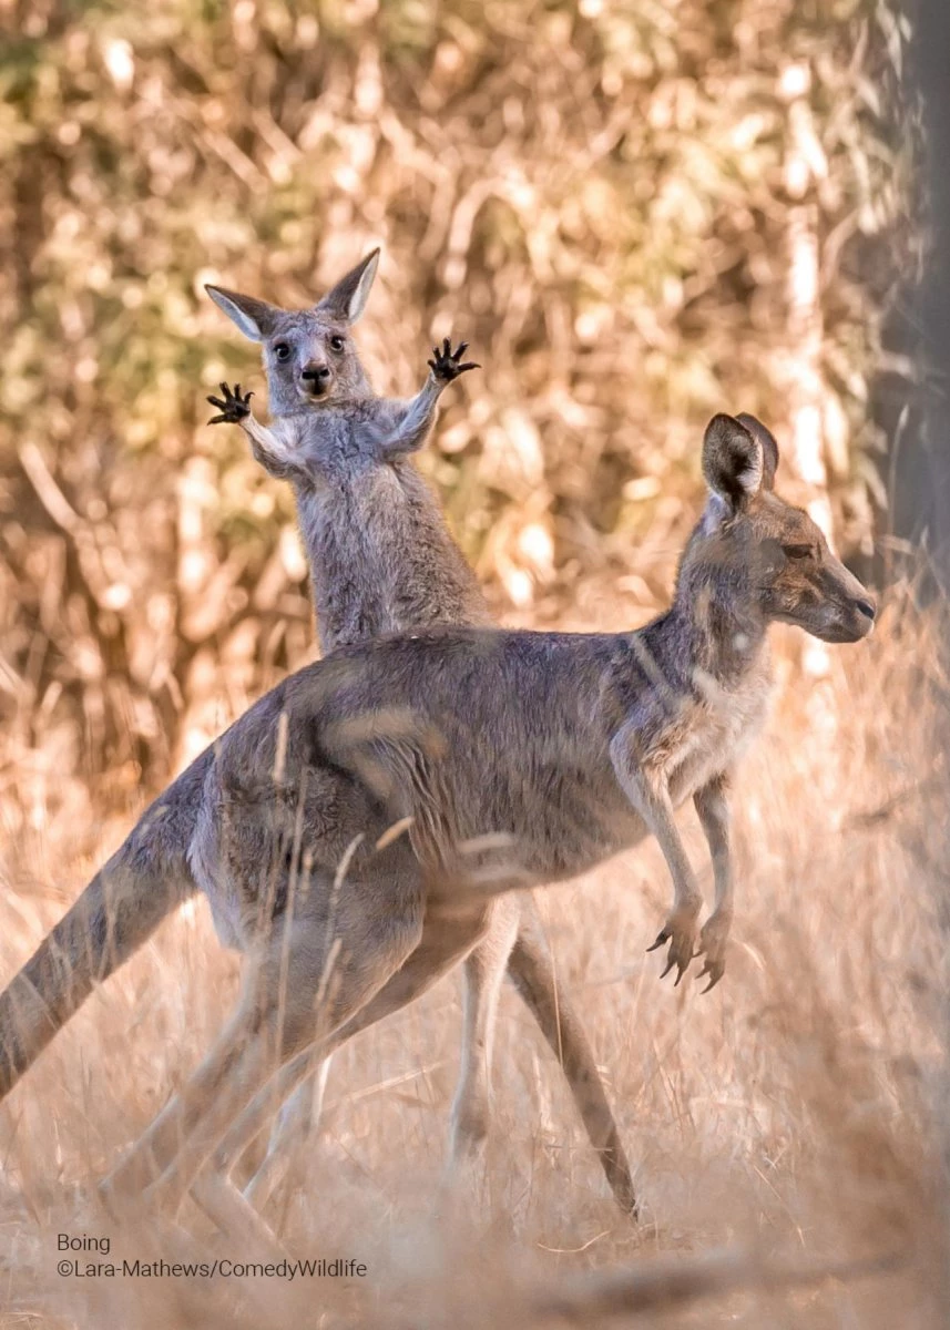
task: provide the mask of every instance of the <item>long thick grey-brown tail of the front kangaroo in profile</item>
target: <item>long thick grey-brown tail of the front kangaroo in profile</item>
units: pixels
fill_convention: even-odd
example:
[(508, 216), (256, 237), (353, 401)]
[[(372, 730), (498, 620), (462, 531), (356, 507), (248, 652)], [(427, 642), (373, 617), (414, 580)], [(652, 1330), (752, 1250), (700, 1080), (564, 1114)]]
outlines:
[(188, 866), (194, 763), (152, 805), (72, 910), (0, 994), (0, 1099), (93, 988), (197, 891)]

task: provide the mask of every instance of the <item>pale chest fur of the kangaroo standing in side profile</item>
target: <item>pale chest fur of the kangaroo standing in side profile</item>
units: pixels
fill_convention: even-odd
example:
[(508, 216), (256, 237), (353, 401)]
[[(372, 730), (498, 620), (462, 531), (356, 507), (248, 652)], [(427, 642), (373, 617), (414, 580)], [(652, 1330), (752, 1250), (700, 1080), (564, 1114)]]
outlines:
[(772, 696), (768, 653), (730, 688), (712, 678), (696, 682), (700, 696), (684, 701), (648, 758), (664, 774), (673, 805), (733, 767), (762, 728)]

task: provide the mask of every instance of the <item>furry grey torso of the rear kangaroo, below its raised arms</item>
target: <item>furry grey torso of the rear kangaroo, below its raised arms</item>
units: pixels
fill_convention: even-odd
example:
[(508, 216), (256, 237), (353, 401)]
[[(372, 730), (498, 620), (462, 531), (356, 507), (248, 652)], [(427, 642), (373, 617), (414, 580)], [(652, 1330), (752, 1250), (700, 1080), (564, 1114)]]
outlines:
[(297, 489), (323, 652), (490, 614), (439, 504), (408, 460)]

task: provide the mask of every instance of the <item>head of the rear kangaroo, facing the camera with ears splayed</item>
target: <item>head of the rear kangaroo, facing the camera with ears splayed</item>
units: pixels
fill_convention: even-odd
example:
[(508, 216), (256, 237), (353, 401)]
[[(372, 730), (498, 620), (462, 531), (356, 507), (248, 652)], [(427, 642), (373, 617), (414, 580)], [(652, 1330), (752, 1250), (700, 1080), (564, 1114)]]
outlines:
[(271, 415), (369, 394), (350, 330), (366, 307), (378, 263), (375, 249), (309, 310), (282, 310), (251, 295), (205, 287), (245, 336), (262, 343)]

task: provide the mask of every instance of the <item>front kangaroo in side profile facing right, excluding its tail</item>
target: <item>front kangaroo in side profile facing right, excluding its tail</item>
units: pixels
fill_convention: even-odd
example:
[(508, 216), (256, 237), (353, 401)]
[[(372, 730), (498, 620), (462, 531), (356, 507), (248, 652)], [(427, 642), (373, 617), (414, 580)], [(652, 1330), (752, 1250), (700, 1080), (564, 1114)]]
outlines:
[[(283, 1068), (289, 1092), (311, 1049), (327, 1056), (424, 991), (471, 951), (484, 902), (576, 876), (649, 834), (673, 882), (657, 943), (677, 978), (697, 952), (718, 975), (733, 914), (728, 783), (765, 712), (769, 625), (857, 642), (875, 618), (808, 513), (776, 495), (777, 463), (757, 420), (712, 419), (709, 499), (669, 609), (644, 628), (439, 626), (339, 648), (222, 735), (189, 859), (245, 939), (247, 982), (106, 1194), (148, 1185), (174, 1212), (238, 1115), (245, 1130), (266, 1120), (271, 1075)], [(701, 928), (675, 821), (687, 799), (713, 863)]]

